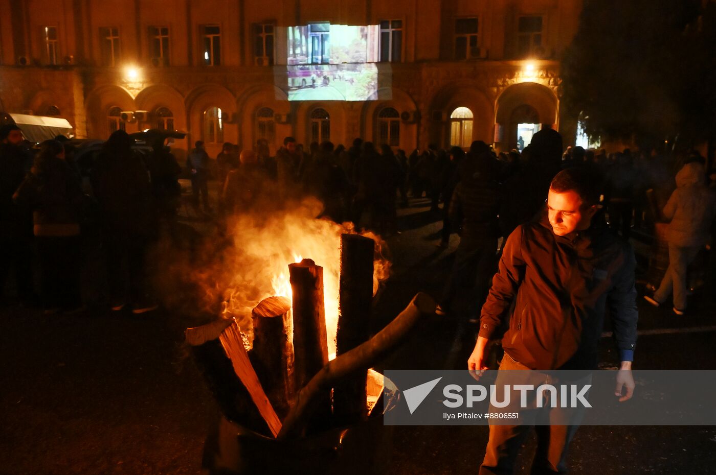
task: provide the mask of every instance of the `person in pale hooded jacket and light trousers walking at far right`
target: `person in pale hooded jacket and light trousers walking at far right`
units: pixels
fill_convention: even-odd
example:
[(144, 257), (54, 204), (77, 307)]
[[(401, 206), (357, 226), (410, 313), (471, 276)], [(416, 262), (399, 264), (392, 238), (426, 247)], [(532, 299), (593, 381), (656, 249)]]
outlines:
[(659, 306), (673, 293), (674, 313), (683, 315), (687, 308), (687, 268), (710, 239), (716, 192), (707, 187), (704, 166), (699, 162), (684, 165), (676, 175), (676, 185), (664, 207), (664, 217), (670, 220), (669, 268), (653, 297), (644, 298)]

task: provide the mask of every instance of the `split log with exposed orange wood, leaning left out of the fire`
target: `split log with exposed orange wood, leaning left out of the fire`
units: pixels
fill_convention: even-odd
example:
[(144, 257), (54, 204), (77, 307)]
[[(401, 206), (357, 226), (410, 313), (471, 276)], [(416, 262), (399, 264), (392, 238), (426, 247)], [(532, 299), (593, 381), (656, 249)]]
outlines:
[(229, 420), (258, 433), (279, 434), (281, 421), (253, 371), (235, 320), (187, 328), (185, 341)]

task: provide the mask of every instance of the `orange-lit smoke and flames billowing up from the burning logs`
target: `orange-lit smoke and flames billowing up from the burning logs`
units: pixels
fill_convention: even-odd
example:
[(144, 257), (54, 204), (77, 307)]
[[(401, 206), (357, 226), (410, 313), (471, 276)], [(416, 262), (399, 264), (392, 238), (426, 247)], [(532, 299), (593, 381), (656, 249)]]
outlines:
[[(251, 335), (251, 310), (264, 298), (291, 297), (290, 263), (302, 258), (323, 267), (326, 332), (329, 353), (335, 351), (338, 323), (340, 237), (356, 233), (351, 223), (319, 219), (323, 206), (309, 197), (281, 210), (261, 207), (229, 217), (223, 236), (208, 240), (193, 250), (193, 258), (175, 258), (173, 278), (165, 290), (188, 289), (175, 295), (185, 310), (236, 318), (241, 329)], [(374, 293), (390, 274), (384, 241), (372, 232), (362, 232), (376, 245)], [(193, 300), (193, 301), (192, 301)], [(188, 308), (187, 308), (188, 307)]]

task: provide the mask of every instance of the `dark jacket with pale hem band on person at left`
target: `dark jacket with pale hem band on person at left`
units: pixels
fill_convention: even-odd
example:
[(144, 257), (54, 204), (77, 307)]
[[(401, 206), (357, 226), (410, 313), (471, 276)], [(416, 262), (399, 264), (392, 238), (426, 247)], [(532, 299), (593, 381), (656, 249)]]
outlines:
[(36, 236), (79, 235), (82, 187), (74, 170), (62, 159), (36, 162), (14, 195), (33, 210)]

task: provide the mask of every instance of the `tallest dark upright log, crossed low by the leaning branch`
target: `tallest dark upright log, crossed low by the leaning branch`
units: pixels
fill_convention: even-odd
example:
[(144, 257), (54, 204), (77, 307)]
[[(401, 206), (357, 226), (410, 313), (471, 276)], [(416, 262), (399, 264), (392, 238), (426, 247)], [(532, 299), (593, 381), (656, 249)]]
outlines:
[[(336, 335), (337, 355), (356, 348), (370, 337), (373, 301), (375, 242), (355, 234), (341, 235), (340, 315)], [(366, 373), (359, 372), (333, 390), (333, 411), (339, 423), (367, 417)]]

